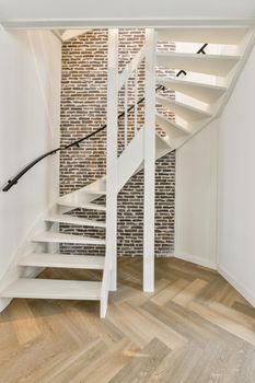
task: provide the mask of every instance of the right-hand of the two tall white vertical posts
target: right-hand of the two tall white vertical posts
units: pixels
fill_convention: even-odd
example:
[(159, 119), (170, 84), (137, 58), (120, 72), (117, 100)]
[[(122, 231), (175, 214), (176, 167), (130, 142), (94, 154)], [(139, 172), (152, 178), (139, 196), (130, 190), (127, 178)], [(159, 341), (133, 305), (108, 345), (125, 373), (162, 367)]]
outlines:
[(154, 291), (155, 33), (146, 31), (143, 291)]

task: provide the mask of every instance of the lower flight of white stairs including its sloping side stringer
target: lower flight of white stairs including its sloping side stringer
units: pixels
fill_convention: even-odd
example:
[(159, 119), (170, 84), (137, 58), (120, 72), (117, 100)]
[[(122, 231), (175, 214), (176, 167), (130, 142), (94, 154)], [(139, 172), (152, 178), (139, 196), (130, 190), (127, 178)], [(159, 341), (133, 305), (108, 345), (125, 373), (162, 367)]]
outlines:
[[(130, 142), (126, 152), (119, 156), (120, 166), (124, 163), (130, 165), (124, 166), (125, 171), (121, 173), (123, 184), (120, 182), (119, 188), (121, 188), (121, 185), (124, 185), (134, 173), (142, 169), (142, 155), (138, 156), (137, 162), (130, 161), (130, 158), (134, 160), (135, 152), (142, 152), (142, 148), (143, 140), (141, 131), (141, 135), (134, 138), (134, 142)], [(167, 141), (155, 134), (157, 159), (162, 158), (171, 150), (172, 148)], [(102, 270), (102, 272), (100, 272), (101, 280), (69, 280), (68, 277), (67, 279), (56, 280), (40, 278), (40, 275), (37, 278), (21, 277), (8, 285), (0, 292), (0, 298), (101, 301), (101, 316), (104, 317), (105, 290), (103, 280), (104, 272), (106, 272), (107, 269), (105, 256), (60, 254), (58, 246), (61, 244), (69, 244), (70, 246), (93, 245), (103, 248), (106, 246), (106, 239), (102, 236), (91, 237), (77, 234), (66, 234), (59, 231), (59, 224), (61, 223), (106, 230), (106, 206), (101, 205), (97, 200), (105, 195), (106, 177), (103, 177), (80, 190), (60, 197), (56, 206), (51, 208), (51, 212), (44, 218), (44, 223), (47, 230), (39, 232), (30, 239), (30, 243), (34, 251), (21, 255), (18, 260), (18, 267), (24, 270), (26, 270), (26, 268), (33, 268), (38, 269), (38, 272), (40, 272), (44, 268), (63, 269), (63, 277), (65, 269)], [(95, 219), (92, 220), (84, 218), (84, 212), (82, 213), (82, 218), (73, 216), (72, 212), (77, 209), (82, 209), (84, 212), (101, 211), (105, 213), (105, 220), (96, 221)], [(54, 248), (57, 248), (56, 252), (53, 252), (53, 246)], [(21, 272), (21, 275), (24, 274)]]

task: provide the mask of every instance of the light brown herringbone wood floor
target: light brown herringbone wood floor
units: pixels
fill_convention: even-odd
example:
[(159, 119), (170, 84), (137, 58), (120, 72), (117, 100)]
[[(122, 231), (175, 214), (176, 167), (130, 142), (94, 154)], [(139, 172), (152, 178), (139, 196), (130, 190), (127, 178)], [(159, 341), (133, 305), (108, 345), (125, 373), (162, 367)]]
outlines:
[[(157, 259), (141, 291), (140, 258), (119, 259), (107, 318), (97, 302), (14, 300), (0, 315), (0, 382), (254, 383), (255, 309), (217, 272)], [(43, 277), (97, 279), (96, 271)]]

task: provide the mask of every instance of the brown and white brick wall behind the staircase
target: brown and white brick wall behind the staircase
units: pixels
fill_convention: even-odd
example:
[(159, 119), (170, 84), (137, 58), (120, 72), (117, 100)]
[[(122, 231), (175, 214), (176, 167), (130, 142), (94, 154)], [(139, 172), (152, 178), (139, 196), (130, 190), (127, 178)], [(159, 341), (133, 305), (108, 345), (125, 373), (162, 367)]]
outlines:
[[(143, 30), (120, 30), (119, 70), (144, 43)], [(159, 49), (174, 49), (173, 44), (159, 43)], [(159, 70), (162, 72), (163, 70)], [(164, 70), (164, 72), (167, 72)], [(169, 71), (169, 74), (171, 72)], [(139, 95), (143, 92), (144, 68), (139, 70)], [(130, 80), (129, 103), (132, 104), (134, 81)], [(96, 130), (106, 121), (107, 92), (107, 31), (94, 30), (62, 46), (61, 144)], [(119, 111), (123, 111), (120, 93)], [(172, 96), (172, 94), (169, 94)], [(166, 113), (164, 108), (161, 108)], [(143, 107), (139, 108), (139, 126)], [(132, 137), (134, 115), (129, 115)], [(161, 132), (162, 134), (162, 132)], [(124, 120), (119, 121), (119, 143), (123, 143)], [(106, 131), (88, 140), (81, 148), (72, 148), (60, 155), (60, 194), (73, 192), (105, 174)], [(119, 144), (119, 150), (121, 144)], [(157, 162), (155, 193), (155, 254), (169, 255), (174, 242), (175, 153)], [(101, 198), (103, 202), (104, 198)], [(125, 185), (118, 196), (118, 255), (142, 255), (143, 172)], [(104, 220), (104, 213), (76, 210), (73, 214)], [(61, 225), (66, 233), (104, 236), (104, 229)], [(62, 245), (61, 252), (103, 255), (98, 246)]]

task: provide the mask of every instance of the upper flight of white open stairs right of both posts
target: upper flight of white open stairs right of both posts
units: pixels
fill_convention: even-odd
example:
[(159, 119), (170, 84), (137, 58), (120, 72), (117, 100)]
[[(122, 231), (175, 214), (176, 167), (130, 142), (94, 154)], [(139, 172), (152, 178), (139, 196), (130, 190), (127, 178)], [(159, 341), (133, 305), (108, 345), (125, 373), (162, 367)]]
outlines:
[[(221, 113), (254, 44), (246, 27), (173, 27), (158, 30), (159, 40), (176, 43), (184, 51), (157, 51), (157, 65), (187, 76), (157, 76), (157, 85), (174, 91), (175, 97), (158, 94), (155, 101), (174, 114), (157, 113), (165, 140), (177, 149)], [(205, 54), (186, 51), (188, 44), (207, 43)], [(217, 44), (217, 46), (216, 46)], [(195, 49), (195, 48), (194, 48)], [(217, 51), (218, 54), (215, 54)]]

